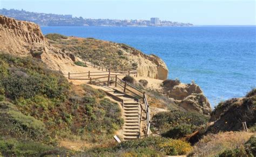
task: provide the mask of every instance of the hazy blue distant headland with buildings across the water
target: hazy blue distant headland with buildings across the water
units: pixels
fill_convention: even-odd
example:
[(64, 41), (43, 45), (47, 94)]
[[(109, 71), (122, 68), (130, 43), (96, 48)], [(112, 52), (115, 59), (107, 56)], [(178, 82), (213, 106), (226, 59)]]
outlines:
[(33, 22), (41, 26), (192, 26), (190, 23), (170, 21), (161, 21), (159, 25), (153, 25), (150, 20), (84, 19), (83, 17), (72, 17), (72, 15), (37, 13), (15, 9), (0, 9), (0, 15)]

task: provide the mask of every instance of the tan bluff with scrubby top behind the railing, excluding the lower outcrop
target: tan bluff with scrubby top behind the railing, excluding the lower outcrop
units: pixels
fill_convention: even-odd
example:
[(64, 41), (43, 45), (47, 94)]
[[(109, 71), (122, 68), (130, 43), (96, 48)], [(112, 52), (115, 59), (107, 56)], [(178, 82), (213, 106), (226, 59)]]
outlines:
[[(46, 37), (49, 37), (46, 35)], [(62, 35), (61, 37), (64, 37)], [(125, 44), (91, 38), (45, 38), (40, 27), (0, 15), (0, 50), (19, 56), (41, 59), (51, 69), (65, 72), (74, 62), (91, 62), (111, 69), (138, 70), (138, 75), (152, 79), (167, 79), (164, 61), (155, 55), (146, 55)]]

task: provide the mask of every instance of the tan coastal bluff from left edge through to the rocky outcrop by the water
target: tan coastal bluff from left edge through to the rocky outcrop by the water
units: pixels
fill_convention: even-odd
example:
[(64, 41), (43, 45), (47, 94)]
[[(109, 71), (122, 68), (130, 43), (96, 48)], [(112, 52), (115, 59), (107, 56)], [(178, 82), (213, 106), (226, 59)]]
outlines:
[(64, 74), (86, 72), (88, 69), (75, 64), (78, 61), (111, 70), (137, 70), (138, 79), (151, 80), (152, 89), (163, 88), (166, 95), (185, 110), (205, 115), (211, 112), (210, 103), (198, 85), (181, 83), (169, 87), (164, 82), (161, 87), (168, 77), (165, 62), (125, 44), (60, 34), (44, 36), (38, 25), (5, 16), (0, 16), (0, 42), (2, 53), (41, 59), (49, 68)]

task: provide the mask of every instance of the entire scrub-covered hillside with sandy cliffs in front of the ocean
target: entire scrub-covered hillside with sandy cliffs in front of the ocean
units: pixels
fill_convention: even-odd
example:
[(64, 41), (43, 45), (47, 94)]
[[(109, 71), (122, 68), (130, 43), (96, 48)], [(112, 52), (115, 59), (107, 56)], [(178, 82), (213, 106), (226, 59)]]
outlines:
[[(255, 156), (255, 89), (211, 112), (196, 83), (166, 80), (161, 59), (130, 46), (44, 37), (38, 25), (4, 16), (0, 41), (0, 156)], [(137, 77), (111, 74), (143, 97), (122, 81), (115, 88), (99, 67), (138, 70)], [(87, 75), (71, 80), (68, 72), (108, 75), (110, 85)]]

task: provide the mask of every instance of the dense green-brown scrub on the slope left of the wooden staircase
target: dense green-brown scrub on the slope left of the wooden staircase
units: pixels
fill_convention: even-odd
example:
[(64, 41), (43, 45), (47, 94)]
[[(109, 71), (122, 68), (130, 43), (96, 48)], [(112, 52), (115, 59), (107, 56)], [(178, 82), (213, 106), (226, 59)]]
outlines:
[[(56, 137), (107, 142), (122, 126), (119, 105), (104, 98), (104, 91), (70, 84), (63, 74), (35, 58), (0, 54), (0, 63), (2, 152), (33, 155), (24, 141), (38, 142), (42, 150), (55, 149)], [(9, 140), (17, 145), (5, 149)]]

